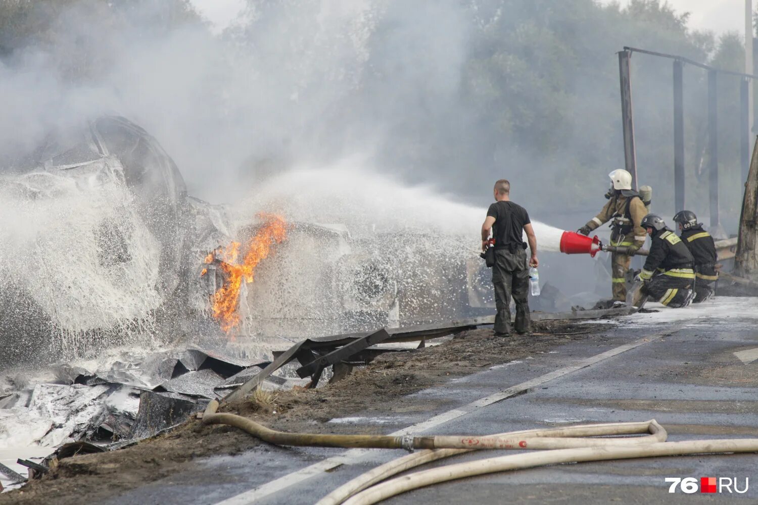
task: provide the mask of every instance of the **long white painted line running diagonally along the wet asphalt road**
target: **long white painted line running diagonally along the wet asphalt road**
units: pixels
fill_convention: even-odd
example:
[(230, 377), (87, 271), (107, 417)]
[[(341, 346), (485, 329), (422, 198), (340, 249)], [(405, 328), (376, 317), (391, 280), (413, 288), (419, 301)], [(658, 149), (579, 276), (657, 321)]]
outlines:
[[(453, 419), (464, 416), (465, 414), (474, 412), (475, 410), (487, 407), (487, 405), (491, 405), (498, 401), (503, 401), (506, 398), (522, 394), (524, 391), (527, 391), (528, 389), (534, 388), (538, 385), (542, 385), (545, 382), (550, 382), (569, 373), (576, 372), (579, 369), (583, 369), (600, 361), (607, 360), (609, 357), (614, 357), (617, 354), (622, 354), (623, 352), (637, 348), (642, 344), (647, 344), (651, 341), (657, 340), (664, 335), (669, 335), (670, 331), (671, 330), (669, 329), (669, 332), (666, 333), (650, 335), (631, 342), (631, 344), (619, 345), (617, 348), (612, 348), (609, 351), (605, 351), (603, 353), (596, 354), (595, 356), (581, 360), (575, 365), (565, 366), (564, 368), (557, 369), (554, 372), (539, 376), (536, 379), (531, 379), (503, 391), (499, 391), (495, 394), (490, 394), (490, 396), (472, 401), (470, 404), (466, 404), (463, 407), (448, 410), (447, 412), (434, 416), (431, 419), (427, 419), (424, 422), (418, 422), (413, 426), (409, 426), (397, 432), (390, 433), (390, 435), (409, 435), (411, 433), (424, 432), (425, 430), (440, 426), (441, 424), (452, 421)], [(305, 479), (310, 479), (311, 477), (321, 474), (322, 472), (328, 472), (332, 469), (337, 468), (337, 466), (355, 463), (359, 460), (360, 457), (363, 457), (365, 454), (367, 454), (369, 450), (375, 449), (346, 450), (343, 452), (343, 454), (327, 458), (326, 460), (319, 461), (318, 463), (314, 463), (310, 466), (306, 466), (305, 468), (299, 469), (296, 472), (289, 473), (283, 477), (280, 477), (279, 479), (275, 479), (264, 485), (260, 485), (257, 488), (253, 488), (249, 491), (244, 491), (243, 493), (236, 494), (235, 496), (229, 497), (226, 500), (219, 501), (218, 503), (215, 503), (215, 505), (246, 505), (247, 503), (255, 503), (256, 500), (261, 500), (262, 498), (271, 496), (271, 494), (289, 488), (291, 485), (298, 484)]]

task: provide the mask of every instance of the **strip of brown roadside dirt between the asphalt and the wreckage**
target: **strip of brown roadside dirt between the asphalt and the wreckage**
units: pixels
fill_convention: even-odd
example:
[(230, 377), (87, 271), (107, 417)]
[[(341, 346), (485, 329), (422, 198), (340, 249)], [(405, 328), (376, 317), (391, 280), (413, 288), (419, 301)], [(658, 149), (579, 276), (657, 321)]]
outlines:
[[(369, 366), (357, 368), (339, 382), (308, 390), (256, 393), (246, 401), (227, 404), (220, 412), (249, 416), (283, 431), (355, 432), (356, 426), (327, 423), (329, 419), (361, 413), (430, 410), (408, 394), (440, 385), (499, 363), (547, 352), (570, 340), (583, 340), (609, 325), (566, 321), (534, 323), (534, 335), (495, 338), (491, 329), (462, 332), (452, 340), (414, 351), (382, 354)], [(597, 338), (597, 337), (595, 337)], [(368, 414), (367, 414), (368, 413)], [(366, 434), (386, 426), (361, 426)], [(240, 454), (266, 444), (227, 426), (202, 426), (197, 419), (172, 432), (108, 453), (69, 457), (54, 464), (42, 479), (16, 491), (0, 494), (9, 503), (101, 503), (124, 491), (146, 485), (195, 465), (195, 460)]]

